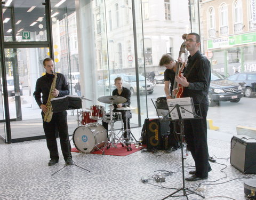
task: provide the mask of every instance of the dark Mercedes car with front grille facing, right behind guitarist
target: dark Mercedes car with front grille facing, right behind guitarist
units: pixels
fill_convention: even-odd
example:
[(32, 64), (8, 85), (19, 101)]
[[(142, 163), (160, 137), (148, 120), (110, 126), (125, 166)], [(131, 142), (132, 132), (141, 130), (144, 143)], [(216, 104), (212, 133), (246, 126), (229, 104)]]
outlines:
[(209, 106), (219, 105), (220, 101), (238, 102), (244, 96), (241, 85), (227, 80), (217, 71), (211, 72)]

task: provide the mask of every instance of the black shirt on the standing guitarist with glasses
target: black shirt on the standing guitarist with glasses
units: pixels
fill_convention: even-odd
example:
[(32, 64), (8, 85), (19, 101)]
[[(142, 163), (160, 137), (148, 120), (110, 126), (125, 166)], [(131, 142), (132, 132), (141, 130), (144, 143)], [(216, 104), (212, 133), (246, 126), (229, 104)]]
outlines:
[(194, 103), (208, 104), (207, 95), (211, 82), (210, 61), (199, 51), (193, 57), (189, 55), (184, 76), (189, 86), (184, 87), (183, 97), (192, 97)]

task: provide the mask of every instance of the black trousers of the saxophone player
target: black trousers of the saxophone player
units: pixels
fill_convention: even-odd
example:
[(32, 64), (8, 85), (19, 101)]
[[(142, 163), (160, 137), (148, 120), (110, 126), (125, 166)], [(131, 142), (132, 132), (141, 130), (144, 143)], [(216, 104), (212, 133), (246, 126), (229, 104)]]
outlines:
[(43, 127), (47, 148), (50, 151), (50, 158), (59, 159), (57, 131), (59, 133), (61, 151), (65, 161), (67, 161), (68, 157), (72, 157), (70, 152), (71, 146), (68, 137), (67, 111), (61, 111), (59, 113), (53, 114), (51, 122), (43, 121)]

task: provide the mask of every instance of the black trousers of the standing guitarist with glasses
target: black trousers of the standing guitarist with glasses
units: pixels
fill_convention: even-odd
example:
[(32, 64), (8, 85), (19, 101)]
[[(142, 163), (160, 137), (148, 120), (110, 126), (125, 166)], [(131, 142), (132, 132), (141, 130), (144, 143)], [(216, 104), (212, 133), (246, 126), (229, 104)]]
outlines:
[[(206, 116), (209, 106), (201, 103), (202, 119), (184, 119), (184, 133), (185, 140), (188, 144), (188, 148), (193, 156), (196, 166), (195, 175), (200, 178), (208, 177), (208, 172), (211, 170), (210, 163), (208, 161), (208, 145), (207, 145), (207, 122)], [(195, 110), (199, 109), (199, 106), (195, 106)], [(199, 115), (199, 111), (198, 111)]]

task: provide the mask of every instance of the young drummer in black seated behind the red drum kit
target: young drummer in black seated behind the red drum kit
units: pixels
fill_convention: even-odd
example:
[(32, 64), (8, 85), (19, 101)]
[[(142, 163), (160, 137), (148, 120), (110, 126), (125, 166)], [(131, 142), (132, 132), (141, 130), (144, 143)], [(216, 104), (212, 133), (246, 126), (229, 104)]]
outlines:
[[(131, 92), (126, 87), (123, 87), (123, 81), (122, 81), (121, 77), (116, 77), (115, 78), (115, 86), (116, 86), (116, 89), (112, 92), (112, 95), (113, 96), (117, 95), (117, 96), (124, 97), (124, 98), (126, 98), (127, 101), (125, 103), (114, 104), (113, 111), (122, 113), (124, 130), (130, 129), (130, 118), (132, 118), (131, 111), (130, 110), (117, 110), (116, 108), (129, 107), (130, 106), (130, 104), (131, 104)], [(127, 118), (127, 126), (128, 127), (126, 127), (126, 123), (125, 123), (126, 118)], [(108, 131), (108, 123), (102, 121), (102, 125)], [(129, 137), (130, 137), (130, 135), (129, 135)], [(128, 145), (129, 144), (129, 139), (127, 138), (126, 131), (124, 132), (124, 138), (126, 138), (125, 139), (125, 144)]]

